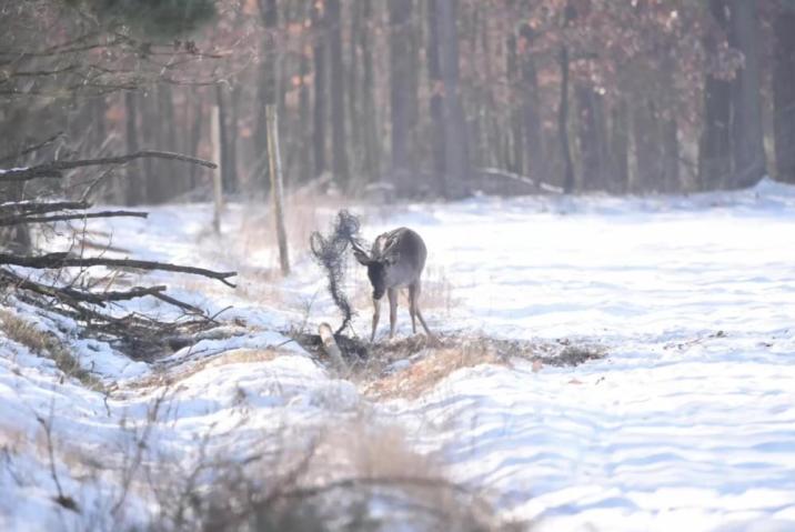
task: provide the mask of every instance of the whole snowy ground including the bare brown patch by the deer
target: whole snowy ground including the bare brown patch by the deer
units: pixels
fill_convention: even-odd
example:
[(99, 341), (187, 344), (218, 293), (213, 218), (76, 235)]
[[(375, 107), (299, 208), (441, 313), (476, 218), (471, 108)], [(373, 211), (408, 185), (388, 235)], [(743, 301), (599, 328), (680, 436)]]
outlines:
[[(155, 360), (0, 301), (0, 529), (179, 528), (228, 516), (223, 489), (242, 478), (250, 493), (400, 480), (400, 503), (381, 485), (366, 504), (329, 491), (313, 506), (321, 519), (365, 504), (388, 530), (444, 530), (416, 499), (484, 529), (795, 526), (794, 188), (338, 203), (291, 205), (285, 280), (261, 205), (229, 205), (220, 239), (209, 205), (89, 223), (119, 257), (240, 272), (237, 290), (145, 275), (222, 322)], [(424, 238), (423, 309), (441, 345), (411, 334), (404, 299), (398, 338), (382, 318), (351, 374), (293, 340), (340, 321), (308, 237), (341, 207), (371, 241), (400, 225)], [(348, 273), (364, 337), (370, 289), (352, 260)], [(62, 350), (82, 379), (58, 369)]]

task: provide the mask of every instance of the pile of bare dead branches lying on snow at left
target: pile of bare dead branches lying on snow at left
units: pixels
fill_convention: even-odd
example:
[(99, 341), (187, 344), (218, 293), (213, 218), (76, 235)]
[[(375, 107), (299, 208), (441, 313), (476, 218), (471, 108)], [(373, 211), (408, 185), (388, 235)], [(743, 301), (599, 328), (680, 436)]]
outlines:
[[(41, 144), (21, 150), (20, 155), (36, 151)], [(120, 157), (102, 159), (53, 160), (24, 168), (0, 170), (0, 234), (2, 231), (22, 230), (26, 233), (31, 227), (53, 228), (63, 232), (71, 231), (72, 245), (66, 251), (41, 252), (30, 245), (18, 245), (6, 237), (0, 239), (0, 291), (13, 294), (19, 301), (73, 319), (83, 325), (84, 332), (110, 341), (114, 347), (131, 357), (145, 359), (160, 351), (169, 338), (184, 335), (211, 327), (212, 317), (194, 305), (180, 301), (167, 292), (167, 287), (125, 287), (117, 289), (122, 272), (169, 271), (201, 275), (234, 287), (230, 278), (232, 271), (218, 272), (203, 268), (171, 264), (157, 261), (134, 259), (113, 259), (104, 255), (111, 250), (108, 245), (90, 243), (87, 235), (70, 222), (83, 222), (87, 219), (117, 217), (147, 218), (140, 211), (89, 211), (92, 203), (88, 195), (97, 181), (90, 182), (82, 197), (78, 200), (46, 200), (41, 194), (27, 198), (11, 194), (9, 188), (19, 189), (20, 183), (32, 180), (60, 179), (64, 171), (76, 171), (89, 167), (115, 167), (141, 158), (159, 158), (184, 161), (207, 168), (217, 168), (209, 161), (179, 153), (161, 151), (140, 151)], [(9, 160), (9, 158), (6, 158)], [(98, 178), (102, 179), (102, 178)], [(6, 192), (4, 192), (6, 190)], [(17, 195), (11, 201), (9, 197)], [(60, 223), (61, 225), (56, 225)], [(82, 242), (76, 245), (74, 242)], [(87, 248), (99, 248), (103, 253), (88, 255)], [(102, 270), (100, 270), (102, 269)], [(97, 272), (100, 271), (101, 274)], [(180, 310), (180, 317), (163, 320), (142, 312), (127, 311), (121, 305), (139, 298), (154, 298)]]

